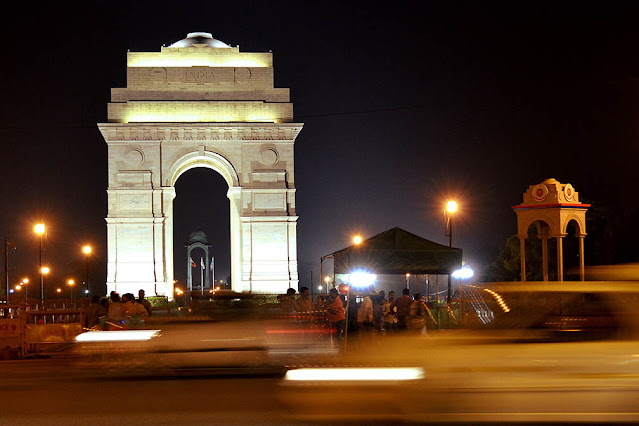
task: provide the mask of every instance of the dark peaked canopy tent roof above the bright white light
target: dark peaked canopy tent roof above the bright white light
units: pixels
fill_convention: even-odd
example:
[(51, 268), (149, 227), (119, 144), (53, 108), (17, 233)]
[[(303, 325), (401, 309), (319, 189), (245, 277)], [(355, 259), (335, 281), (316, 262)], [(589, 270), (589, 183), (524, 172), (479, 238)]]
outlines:
[(462, 249), (392, 228), (325, 257), (334, 259), (335, 274), (355, 269), (374, 274), (450, 274), (461, 268)]

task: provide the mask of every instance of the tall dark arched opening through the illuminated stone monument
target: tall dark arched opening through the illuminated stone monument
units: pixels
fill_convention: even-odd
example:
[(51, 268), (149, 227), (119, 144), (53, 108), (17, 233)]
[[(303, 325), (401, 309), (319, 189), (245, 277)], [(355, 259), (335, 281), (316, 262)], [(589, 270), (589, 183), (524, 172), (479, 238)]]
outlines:
[[(173, 271), (177, 286), (186, 288), (188, 267), (191, 267), (194, 289), (209, 268), (212, 287), (230, 288), (231, 276), (231, 218), (227, 193), (229, 185), (224, 177), (208, 167), (190, 168), (179, 175), (175, 182), (173, 200)], [(195, 249), (191, 254), (195, 266), (187, 258), (189, 236), (201, 230), (208, 240), (209, 262), (202, 261), (204, 250)], [(191, 266), (189, 266), (191, 265)], [(204, 271), (205, 272), (205, 271)]]

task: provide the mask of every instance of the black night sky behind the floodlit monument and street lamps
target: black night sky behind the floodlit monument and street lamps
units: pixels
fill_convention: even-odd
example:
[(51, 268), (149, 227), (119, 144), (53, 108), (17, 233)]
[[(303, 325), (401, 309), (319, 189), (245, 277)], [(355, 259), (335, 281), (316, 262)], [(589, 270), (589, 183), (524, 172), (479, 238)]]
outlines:
[[(104, 282), (96, 123), (110, 88), (125, 86), (127, 49), (159, 51), (193, 31), (272, 50), (276, 87), (291, 89), (305, 123), (295, 164), (302, 284), (355, 232), (399, 226), (445, 243), (447, 197), (460, 202), (454, 245), (476, 267), (515, 233), (510, 206), (546, 178), (615, 214), (637, 208), (638, 18), (639, 4), (624, 2), (25, 3), (0, 27), (0, 233), (17, 244), (12, 277), (35, 276), (42, 217), (51, 279), (80, 275), (90, 242), (92, 280)], [(190, 173), (178, 182), (176, 209), (189, 214), (176, 245), (182, 253), (179, 234), (201, 226), (224, 278), (224, 184)]]

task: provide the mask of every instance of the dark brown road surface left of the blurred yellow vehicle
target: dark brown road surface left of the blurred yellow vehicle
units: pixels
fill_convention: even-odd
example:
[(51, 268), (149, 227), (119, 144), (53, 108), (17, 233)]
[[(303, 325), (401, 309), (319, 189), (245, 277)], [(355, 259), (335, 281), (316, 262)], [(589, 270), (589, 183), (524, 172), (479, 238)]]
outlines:
[(4, 424), (286, 424), (279, 377), (118, 376), (69, 360), (0, 362)]

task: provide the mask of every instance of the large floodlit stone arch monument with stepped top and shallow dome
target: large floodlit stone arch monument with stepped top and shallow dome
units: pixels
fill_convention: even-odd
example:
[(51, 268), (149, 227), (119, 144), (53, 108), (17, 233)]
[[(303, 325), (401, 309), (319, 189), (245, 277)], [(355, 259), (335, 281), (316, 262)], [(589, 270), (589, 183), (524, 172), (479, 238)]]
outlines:
[(207, 167), (229, 186), (235, 291), (296, 287), (293, 123), (271, 53), (245, 53), (208, 33), (160, 52), (127, 54), (108, 123), (107, 289), (173, 297), (173, 199), (184, 172)]

